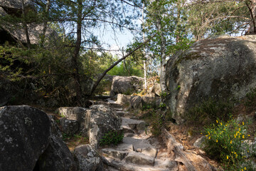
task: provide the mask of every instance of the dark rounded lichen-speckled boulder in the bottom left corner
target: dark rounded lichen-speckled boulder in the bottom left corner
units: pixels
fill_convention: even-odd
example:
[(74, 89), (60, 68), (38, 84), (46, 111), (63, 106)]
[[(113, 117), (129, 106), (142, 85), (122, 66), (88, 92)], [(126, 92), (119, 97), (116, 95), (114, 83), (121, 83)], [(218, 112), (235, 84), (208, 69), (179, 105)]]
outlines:
[(49, 144), (50, 120), (27, 105), (0, 108), (0, 170), (33, 170)]

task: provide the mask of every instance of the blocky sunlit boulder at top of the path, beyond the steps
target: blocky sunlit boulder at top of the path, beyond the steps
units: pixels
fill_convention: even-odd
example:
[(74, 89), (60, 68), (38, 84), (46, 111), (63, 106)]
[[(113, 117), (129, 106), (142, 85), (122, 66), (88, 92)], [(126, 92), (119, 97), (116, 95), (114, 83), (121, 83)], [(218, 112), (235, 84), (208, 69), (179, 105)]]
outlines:
[(110, 96), (118, 93), (131, 95), (143, 89), (143, 78), (137, 76), (114, 76)]

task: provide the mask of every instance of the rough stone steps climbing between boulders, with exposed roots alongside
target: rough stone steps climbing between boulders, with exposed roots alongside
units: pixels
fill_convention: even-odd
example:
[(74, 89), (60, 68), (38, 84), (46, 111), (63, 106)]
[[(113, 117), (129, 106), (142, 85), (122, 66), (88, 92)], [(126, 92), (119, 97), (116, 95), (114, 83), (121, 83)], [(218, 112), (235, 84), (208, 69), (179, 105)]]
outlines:
[[(97, 102), (102, 104), (102, 102)], [(203, 157), (185, 152), (183, 146), (164, 131), (163, 142), (151, 136), (143, 120), (130, 118), (131, 113), (122, 110), (122, 105), (109, 100), (105, 105), (112, 106), (122, 117), (123, 142), (115, 147), (103, 148), (100, 155), (105, 170), (115, 171), (164, 171), (164, 170), (215, 170)], [(171, 144), (170, 144), (171, 143)]]

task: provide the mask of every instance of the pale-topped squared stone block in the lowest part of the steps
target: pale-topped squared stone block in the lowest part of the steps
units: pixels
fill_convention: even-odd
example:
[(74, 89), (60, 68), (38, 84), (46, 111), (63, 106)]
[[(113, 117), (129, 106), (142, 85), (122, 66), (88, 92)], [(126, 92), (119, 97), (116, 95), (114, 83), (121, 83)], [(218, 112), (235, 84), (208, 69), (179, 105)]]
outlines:
[(140, 152), (129, 152), (124, 158), (125, 162), (129, 162), (136, 165), (149, 165), (154, 166), (154, 157), (149, 157)]

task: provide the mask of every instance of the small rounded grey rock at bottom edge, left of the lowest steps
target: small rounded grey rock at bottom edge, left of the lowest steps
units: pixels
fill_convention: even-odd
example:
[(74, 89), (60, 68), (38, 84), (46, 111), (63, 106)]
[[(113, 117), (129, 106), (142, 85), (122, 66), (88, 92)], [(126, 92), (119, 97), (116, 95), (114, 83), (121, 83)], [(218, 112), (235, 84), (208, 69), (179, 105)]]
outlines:
[(101, 171), (103, 163), (100, 155), (90, 145), (79, 145), (74, 150), (75, 161), (80, 171)]

